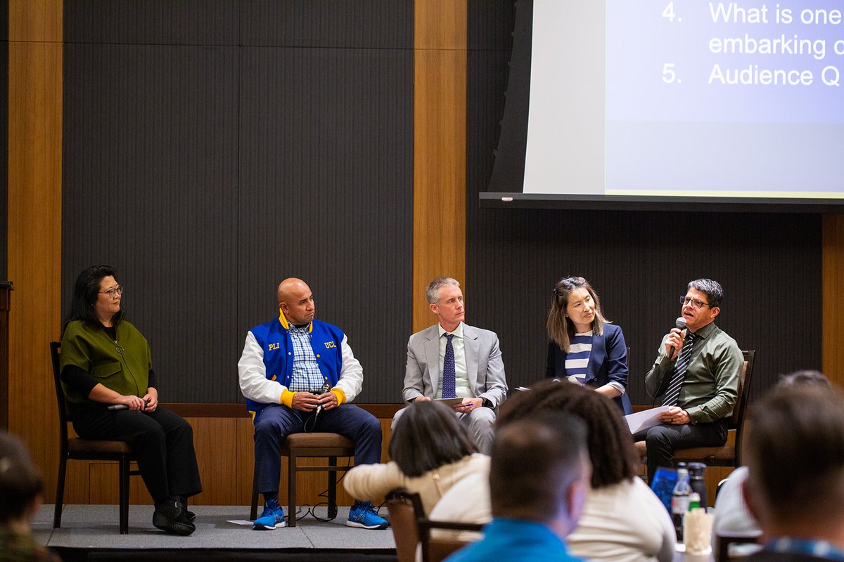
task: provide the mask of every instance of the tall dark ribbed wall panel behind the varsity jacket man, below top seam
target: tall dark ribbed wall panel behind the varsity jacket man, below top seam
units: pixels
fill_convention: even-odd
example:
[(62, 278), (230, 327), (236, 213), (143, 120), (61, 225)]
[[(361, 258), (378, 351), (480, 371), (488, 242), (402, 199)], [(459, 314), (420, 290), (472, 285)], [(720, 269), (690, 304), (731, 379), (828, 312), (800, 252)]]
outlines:
[[(400, 400), (411, 324), (412, 51), (244, 50), (243, 335), (305, 280), (364, 367), (358, 401)], [(241, 342), (242, 343), (242, 342)]]

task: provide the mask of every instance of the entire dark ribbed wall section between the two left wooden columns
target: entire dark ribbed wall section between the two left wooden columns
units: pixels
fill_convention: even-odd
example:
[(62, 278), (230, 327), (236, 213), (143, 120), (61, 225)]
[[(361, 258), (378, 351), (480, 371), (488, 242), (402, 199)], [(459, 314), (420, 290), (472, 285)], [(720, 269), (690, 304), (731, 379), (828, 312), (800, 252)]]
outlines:
[(114, 265), (165, 401), (242, 401), (285, 276), (349, 335), (358, 401), (400, 396), (413, 3), (348, 7), (65, 3), (64, 312), (79, 270)]

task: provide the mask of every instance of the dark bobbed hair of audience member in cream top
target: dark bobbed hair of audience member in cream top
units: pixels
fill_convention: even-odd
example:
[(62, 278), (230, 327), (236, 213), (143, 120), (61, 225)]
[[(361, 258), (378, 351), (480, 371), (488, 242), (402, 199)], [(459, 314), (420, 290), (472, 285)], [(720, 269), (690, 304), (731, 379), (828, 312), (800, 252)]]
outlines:
[(454, 411), (439, 402), (414, 402), (392, 426), (390, 456), (408, 476), (454, 463), (478, 446)]

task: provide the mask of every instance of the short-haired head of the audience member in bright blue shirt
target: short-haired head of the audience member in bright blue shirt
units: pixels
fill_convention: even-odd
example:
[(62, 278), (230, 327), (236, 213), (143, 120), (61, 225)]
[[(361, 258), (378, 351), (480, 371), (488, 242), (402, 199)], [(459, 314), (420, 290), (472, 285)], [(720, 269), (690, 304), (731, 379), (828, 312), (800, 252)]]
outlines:
[(582, 420), (559, 412), (500, 425), (490, 462), (493, 517), (542, 522), (560, 538), (576, 527), (590, 474)]

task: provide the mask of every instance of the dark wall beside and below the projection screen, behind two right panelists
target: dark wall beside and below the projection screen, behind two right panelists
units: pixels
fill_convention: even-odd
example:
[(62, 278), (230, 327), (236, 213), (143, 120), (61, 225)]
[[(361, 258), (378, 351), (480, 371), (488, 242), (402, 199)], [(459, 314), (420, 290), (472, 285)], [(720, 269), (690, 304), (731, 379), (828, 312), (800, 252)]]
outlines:
[(679, 315), (678, 297), (697, 277), (722, 283), (717, 323), (758, 351), (752, 399), (779, 373), (820, 368), (820, 215), (478, 208), (510, 36), (484, 20), (490, 10), (480, 4), (469, 3), (470, 44), (479, 51), (468, 57), (467, 308), (473, 324), (500, 335), (511, 388), (544, 377), (551, 289), (570, 275), (592, 281), (624, 329), (633, 404), (647, 404), (644, 376)]

